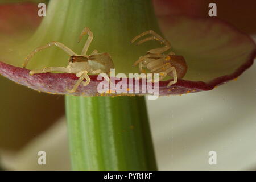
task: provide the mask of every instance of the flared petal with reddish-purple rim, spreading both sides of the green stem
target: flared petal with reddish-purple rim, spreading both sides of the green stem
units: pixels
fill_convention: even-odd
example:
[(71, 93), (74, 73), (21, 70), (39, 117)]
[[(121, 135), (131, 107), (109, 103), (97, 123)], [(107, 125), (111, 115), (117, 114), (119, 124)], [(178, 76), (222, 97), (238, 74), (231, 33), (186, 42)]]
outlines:
[[(5, 5), (5, 9), (6, 7), (7, 9), (10, 8), (10, 6), (13, 5)], [(2, 9), (3, 7), (0, 8)], [(17, 11), (11, 11), (14, 13), (10, 16), (3, 16), (3, 11), (0, 11), (0, 20), (3, 22), (2, 26), (0, 26), (0, 38), (3, 40), (0, 43), (1, 75), (18, 84), (52, 94), (73, 94), (75, 96), (116, 96), (123, 94), (133, 96), (134, 94), (152, 94), (150, 92), (142, 93), (142, 90), (139, 93), (129, 93), (129, 88), (135, 87), (135, 80), (133, 80), (133, 84), (131, 84), (130, 80), (129, 85), (129, 80), (126, 80), (126, 78), (122, 78), (122, 81), (127, 82), (127, 93), (112, 93), (113, 90), (111, 88), (108, 93), (99, 93), (97, 86), (101, 80), (97, 79), (97, 75), (89, 76), (89, 85), (83, 86), (81, 84), (76, 92), (69, 93), (67, 89), (71, 89), (78, 79), (73, 73), (39, 73), (32, 76), (29, 75), (29, 69), (21, 68), (22, 65), (20, 63), (23, 60), (14, 61), (15, 54), (19, 54), (19, 51), (14, 52), (13, 49), (17, 50), (20, 45), (17, 43), (26, 40), (34, 32), (40, 19), (32, 18), (34, 16), (33, 13), (36, 11), (34, 5), (16, 5), (16, 9), (17, 11), (26, 10), (26, 15), (19, 16), (19, 14), (15, 13)], [(18, 18), (19, 22), (23, 22), (22, 24), (14, 23), (14, 20)], [(172, 51), (177, 55), (182, 55), (188, 65), (186, 75), (182, 79), (178, 79), (176, 84), (167, 88), (168, 83), (172, 80), (171, 77), (166, 81), (159, 81), (159, 86), (154, 88), (159, 89), (159, 95), (212, 90), (217, 85), (237, 78), (253, 64), (256, 53), (253, 40), (246, 34), (237, 31), (218, 19), (162, 16), (159, 18), (159, 25), (164, 37), (170, 41)], [(15, 41), (13, 38), (15, 38)], [(141, 56), (143, 55), (145, 55), (145, 52), (141, 53)], [(131, 62), (134, 61), (136, 60)], [(114, 64), (122, 64), (122, 62), (114, 60)], [(120, 68), (122, 65), (117, 65), (117, 67)], [(130, 65), (130, 67), (132, 66)], [(134, 70), (134, 68), (131, 70)], [(115, 74), (118, 73), (117, 71)], [(131, 71), (131, 73), (133, 72)], [(114, 84), (117, 85), (118, 82), (116, 80)], [(143, 86), (145, 85), (142, 84), (140, 88), (143, 88)]]

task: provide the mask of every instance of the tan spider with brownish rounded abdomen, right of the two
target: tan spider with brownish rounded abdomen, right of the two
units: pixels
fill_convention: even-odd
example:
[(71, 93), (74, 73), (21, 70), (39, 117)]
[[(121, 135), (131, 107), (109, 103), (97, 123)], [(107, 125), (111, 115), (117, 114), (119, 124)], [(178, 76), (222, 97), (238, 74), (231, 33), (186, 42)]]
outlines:
[(141, 73), (143, 72), (143, 67), (147, 68), (151, 73), (159, 73), (159, 81), (163, 80), (167, 75), (172, 76), (174, 80), (170, 81), (167, 85), (167, 87), (170, 87), (177, 82), (177, 78), (183, 78), (185, 76), (188, 68), (185, 59), (183, 56), (175, 55), (172, 51), (168, 53), (168, 55), (163, 54), (163, 52), (166, 52), (171, 48), (171, 44), (168, 40), (163, 39), (162, 36), (156, 34), (156, 32), (152, 30), (148, 30), (135, 36), (135, 38), (131, 40), (131, 43), (134, 43), (137, 39), (147, 34), (151, 34), (152, 36), (139, 40), (136, 45), (142, 44), (148, 40), (157, 40), (161, 44), (164, 44), (164, 47), (147, 51), (146, 55), (139, 57), (139, 60), (135, 61), (133, 66), (139, 64), (139, 72)]

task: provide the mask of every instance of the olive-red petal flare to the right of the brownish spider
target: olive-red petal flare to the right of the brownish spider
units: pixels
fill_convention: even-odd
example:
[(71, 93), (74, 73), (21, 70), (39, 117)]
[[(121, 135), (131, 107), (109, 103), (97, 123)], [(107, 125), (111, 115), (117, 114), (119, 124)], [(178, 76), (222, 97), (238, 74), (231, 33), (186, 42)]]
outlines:
[(170, 15), (159, 18), (159, 24), (173, 51), (187, 61), (184, 80), (204, 81), (212, 88), (238, 77), (253, 64), (254, 41), (228, 23)]

